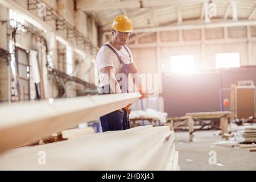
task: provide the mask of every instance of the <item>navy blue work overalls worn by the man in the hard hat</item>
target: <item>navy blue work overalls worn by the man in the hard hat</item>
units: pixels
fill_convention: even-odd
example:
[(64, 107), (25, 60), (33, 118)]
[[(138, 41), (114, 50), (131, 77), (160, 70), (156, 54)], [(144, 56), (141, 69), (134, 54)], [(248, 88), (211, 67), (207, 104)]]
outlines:
[[(115, 49), (113, 47), (111, 47), (109, 44), (105, 44), (104, 46), (109, 47), (110, 49), (112, 49), (112, 51), (115, 53), (115, 55), (117, 55), (119, 62), (121, 64), (121, 72), (126, 75), (126, 78), (128, 78), (129, 72), (130, 72), (130, 64), (125, 64), (123, 63), (121, 57), (118, 55), (117, 51), (115, 51)], [(131, 55), (128, 51), (128, 49), (126, 48), (126, 46), (123, 46), (127, 53), (129, 54), (130, 57), (130, 63), (131, 63)], [(121, 80), (117, 80), (118, 82)], [(126, 83), (128, 81), (126, 80)], [(104, 90), (106, 89), (105, 87), (108, 87), (108, 92), (105, 93)], [(126, 90), (126, 92), (128, 93), (128, 90)], [(101, 94), (109, 94), (109, 93), (115, 93), (113, 92), (113, 90), (110, 89), (110, 85), (105, 85), (102, 86), (101, 88)], [(114, 130), (127, 130), (130, 129), (130, 122), (129, 122), (129, 116), (127, 114), (127, 111), (125, 109), (122, 109), (122, 113), (118, 110), (113, 111), (112, 113), (106, 114), (104, 116), (102, 116), (101, 119), (101, 126), (102, 126), (102, 131), (114, 131)]]

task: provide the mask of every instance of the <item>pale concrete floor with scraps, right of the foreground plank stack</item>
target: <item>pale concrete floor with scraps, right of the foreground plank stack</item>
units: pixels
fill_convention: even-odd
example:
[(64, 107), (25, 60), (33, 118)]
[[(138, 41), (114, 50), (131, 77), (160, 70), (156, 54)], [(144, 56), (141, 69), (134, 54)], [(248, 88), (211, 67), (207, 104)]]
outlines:
[[(175, 132), (179, 151), (180, 170), (253, 170), (256, 171), (256, 152), (248, 148), (216, 146), (221, 137), (218, 131), (196, 131), (194, 141), (188, 142), (188, 131)], [(218, 165), (210, 165), (210, 151), (215, 151)]]

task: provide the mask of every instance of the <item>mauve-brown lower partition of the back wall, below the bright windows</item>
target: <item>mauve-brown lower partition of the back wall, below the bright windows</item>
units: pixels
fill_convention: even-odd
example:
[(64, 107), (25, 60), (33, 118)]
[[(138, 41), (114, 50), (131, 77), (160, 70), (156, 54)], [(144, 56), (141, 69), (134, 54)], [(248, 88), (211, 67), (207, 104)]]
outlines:
[(222, 104), (224, 99), (230, 100), (230, 85), (242, 80), (251, 80), (255, 84), (255, 73), (255, 66), (193, 75), (163, 73), (164, 108), (170, 117), (194, 112), (230, 111), (229, 106)]

